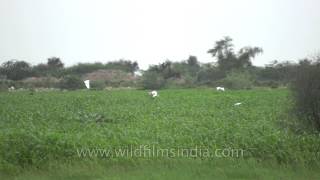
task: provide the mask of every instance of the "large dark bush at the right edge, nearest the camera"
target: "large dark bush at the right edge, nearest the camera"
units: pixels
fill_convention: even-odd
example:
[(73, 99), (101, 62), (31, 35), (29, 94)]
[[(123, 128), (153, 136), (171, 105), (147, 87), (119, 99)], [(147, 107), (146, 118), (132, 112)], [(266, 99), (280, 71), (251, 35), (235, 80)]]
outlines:
[(320, 63), (304, 64), (298, 68), (293, 82), (295, 111), (300, 120), (320, 132)]

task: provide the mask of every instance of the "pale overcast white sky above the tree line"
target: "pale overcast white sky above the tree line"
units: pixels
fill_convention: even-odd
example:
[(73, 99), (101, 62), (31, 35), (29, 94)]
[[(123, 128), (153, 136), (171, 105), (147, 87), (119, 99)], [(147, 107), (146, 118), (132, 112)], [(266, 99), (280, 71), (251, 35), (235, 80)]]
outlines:
[(65, 65), (127, 59), (142, 69), (207, 53), (224, 36), (253, 60), (296, 61), (320, 52), (319, 0), (0, 0), (0, 63)]

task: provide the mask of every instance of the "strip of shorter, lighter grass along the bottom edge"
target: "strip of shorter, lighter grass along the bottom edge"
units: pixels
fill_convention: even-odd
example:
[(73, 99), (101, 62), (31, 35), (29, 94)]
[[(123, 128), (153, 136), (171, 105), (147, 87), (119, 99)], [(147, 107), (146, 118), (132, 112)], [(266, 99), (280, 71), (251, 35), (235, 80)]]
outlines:
[(104, 180), (104, 179), (318, 179), (317, 169), (258, 163), (256, 160), (163, 160), (142, 164), (59, 164), (50, 170), (29, 170), (18, 175), (0, 175), (14, 180)]

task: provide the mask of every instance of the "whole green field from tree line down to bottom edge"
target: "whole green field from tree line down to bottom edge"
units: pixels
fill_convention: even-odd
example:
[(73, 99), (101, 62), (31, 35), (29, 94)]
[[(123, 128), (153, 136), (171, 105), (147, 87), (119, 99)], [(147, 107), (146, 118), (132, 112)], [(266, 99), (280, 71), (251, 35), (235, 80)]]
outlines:
[[(320, 137), (290, 130), (288, 90), (159, 94), (152, 99), (139, 90), (0, 93), (0, 178), (320, 177)], [(174, 152), (79, 156), (79, 150), (100, 149), (130, 154), (141, 146)], [(178, 157), (180, 149), (190, 151)]]

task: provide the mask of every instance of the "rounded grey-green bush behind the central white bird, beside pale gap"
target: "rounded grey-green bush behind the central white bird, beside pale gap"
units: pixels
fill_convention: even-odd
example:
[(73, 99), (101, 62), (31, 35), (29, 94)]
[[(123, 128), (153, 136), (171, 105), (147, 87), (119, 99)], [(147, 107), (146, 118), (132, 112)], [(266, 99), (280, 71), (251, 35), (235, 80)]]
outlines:
[(141, 87), (143, 89), (161, 89), (165, 85), (166, 81), (159, 73), (147, 71), (142, 76)]

